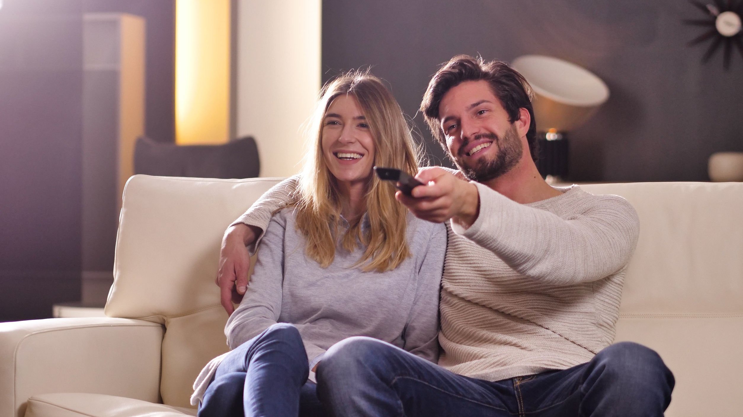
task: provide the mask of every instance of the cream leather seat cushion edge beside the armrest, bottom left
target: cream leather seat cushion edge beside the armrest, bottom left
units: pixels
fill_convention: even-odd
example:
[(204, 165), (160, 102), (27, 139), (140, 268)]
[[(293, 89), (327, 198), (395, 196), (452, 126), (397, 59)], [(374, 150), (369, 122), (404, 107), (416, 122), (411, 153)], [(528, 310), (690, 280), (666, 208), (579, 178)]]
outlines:
[(103, 394), (54, 393), (28, 399), (26, 417), (137, 417), (195, 416), (192, 408), (153, 404)]

